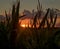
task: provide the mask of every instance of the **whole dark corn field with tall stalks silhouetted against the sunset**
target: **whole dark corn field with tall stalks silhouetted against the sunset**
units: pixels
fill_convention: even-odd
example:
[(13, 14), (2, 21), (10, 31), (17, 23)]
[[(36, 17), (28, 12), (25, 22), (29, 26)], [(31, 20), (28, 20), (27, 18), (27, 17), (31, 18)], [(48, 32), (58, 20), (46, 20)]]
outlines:
[[(37, 13), (33, 18), (31, 28), (20, 27), (19, 20), (25, 15), (20, 16), (19, 9), (20, 1), (17, 2), (17, 5), (13, 4), (11, 18), (5, 10), (6, 19), (4, 22), (0, 22), (0, 48), (60, 49), (60, 28), (55, 27), (58, 15), (54, 13), (53, 9), (48, 8), (40, 21), (43, 10), (38, 0)], [(37, 20), (39, 22), (38, 28), (36, 26)]]

